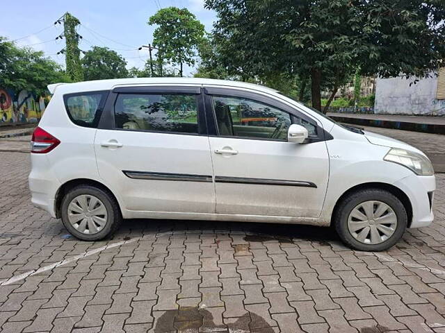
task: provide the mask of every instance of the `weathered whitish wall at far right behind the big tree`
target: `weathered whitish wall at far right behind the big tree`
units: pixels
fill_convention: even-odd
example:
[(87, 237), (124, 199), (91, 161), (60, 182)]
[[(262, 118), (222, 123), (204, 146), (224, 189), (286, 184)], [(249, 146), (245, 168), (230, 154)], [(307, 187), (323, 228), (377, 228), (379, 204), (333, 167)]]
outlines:
[(436, 99), (437, 76), (410, 86), (406, 78), (377, 78), (374, 112), (385, 114), (445, 115), (445, 100)]

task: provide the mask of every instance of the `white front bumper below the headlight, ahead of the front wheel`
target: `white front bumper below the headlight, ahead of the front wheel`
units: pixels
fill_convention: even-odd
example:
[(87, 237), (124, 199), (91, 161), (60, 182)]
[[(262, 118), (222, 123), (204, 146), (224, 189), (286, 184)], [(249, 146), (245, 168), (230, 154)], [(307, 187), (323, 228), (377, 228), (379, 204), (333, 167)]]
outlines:
[(435, 176), (416, 176), (412, 174), (398, 180), (394, 186), (401, 189), (410, 199), (412, 206), (412, 221), (409, 228), (426, 227), (432, 223), (433, 193), (436, 189)]

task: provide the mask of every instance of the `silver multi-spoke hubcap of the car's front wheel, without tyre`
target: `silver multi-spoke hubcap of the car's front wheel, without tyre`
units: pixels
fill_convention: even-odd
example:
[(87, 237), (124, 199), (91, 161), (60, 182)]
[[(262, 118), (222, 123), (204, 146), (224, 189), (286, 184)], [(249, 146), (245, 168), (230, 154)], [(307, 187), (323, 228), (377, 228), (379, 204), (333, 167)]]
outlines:
[(363, 244), (380, 244), (389, 239), (397, 228), (397, 216), (381, 201), (359, 203), (348, 216), (348, 230)]

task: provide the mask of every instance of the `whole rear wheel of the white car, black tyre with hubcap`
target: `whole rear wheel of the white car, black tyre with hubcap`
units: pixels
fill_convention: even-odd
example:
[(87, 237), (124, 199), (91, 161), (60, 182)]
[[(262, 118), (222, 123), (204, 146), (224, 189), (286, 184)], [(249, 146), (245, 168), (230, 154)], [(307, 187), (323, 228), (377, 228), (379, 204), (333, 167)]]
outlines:
[(115, 198), (108, 191), (90, 185), (74, 187), (65, 194), (61, 215), (65, 228), (83, 241), (110, 237), (122, 221)]

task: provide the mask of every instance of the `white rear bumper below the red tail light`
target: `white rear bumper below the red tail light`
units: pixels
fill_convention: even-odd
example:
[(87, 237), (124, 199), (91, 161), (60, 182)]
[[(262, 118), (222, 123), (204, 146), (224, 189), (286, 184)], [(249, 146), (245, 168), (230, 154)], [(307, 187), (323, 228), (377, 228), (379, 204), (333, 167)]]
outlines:
[(60, 182), (51, 173), (47, 157), (31, 153), (31, 173), (28, 177), (31, 203), (56, 217), (56, 192)]

